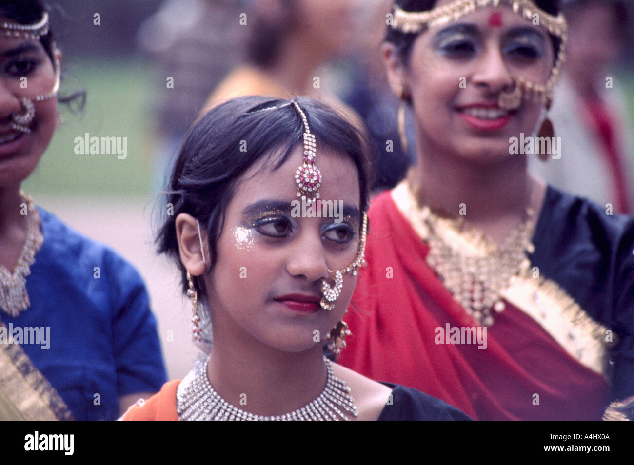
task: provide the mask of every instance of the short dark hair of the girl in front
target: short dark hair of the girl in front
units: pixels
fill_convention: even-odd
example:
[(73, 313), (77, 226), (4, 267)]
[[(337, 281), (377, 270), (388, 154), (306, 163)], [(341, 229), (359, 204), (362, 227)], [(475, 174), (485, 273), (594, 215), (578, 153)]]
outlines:
[[(365, 212), (373, 181), (372, 146), (366, 135), (346, 117), (318, 101), (309, 98), (295, 101), (306, 113), (318, 150), (328, 148), (353, 160), (359, 177), (361, 212)], [(261, 96), (234, 98), (207, 111), (185, 136), (172, 169), (165, 203), (158, 205), (162, 210), (159, 212), (162, 226), (156, 236), (157, 251), (174, 260), (181, 271), (183, 292), (188, 289), (188, 281), (179, 258), (176, 217), (189, 213), (207, 231), (210, 272), (216, 264), (216, 243), (238, 179), (259, 160), (273, 170), (278, 169), (303, 139), (301, 117), (289, 104), (289, 100)], [(271, 107), (278, 108), (268, 109)], [(241, 141), (248, 141), (247, 150), (244, 151)], [(167, 219), (165, 205), (173, 205)], [(199, 299), (206, 302), (202, 280), (196, 279), (195, 286)]]

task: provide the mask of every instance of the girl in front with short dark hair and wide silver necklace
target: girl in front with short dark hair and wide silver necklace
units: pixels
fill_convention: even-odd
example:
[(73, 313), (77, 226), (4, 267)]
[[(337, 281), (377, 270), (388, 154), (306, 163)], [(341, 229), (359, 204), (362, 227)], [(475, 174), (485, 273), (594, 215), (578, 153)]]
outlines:
[[(157, 243), (178, 265), (195, 336), (212, 349), (125, 420), (469, 419), (323, 357), (323, 340), (338, 354), (349, 334), (370, 166), (358, 129), (311, 99), (236, 98), (198, 120)], [(292, 215), (298, 197), (342, 202), (341, 220)], [(209, 319), (212, 334), (198, 328)]]

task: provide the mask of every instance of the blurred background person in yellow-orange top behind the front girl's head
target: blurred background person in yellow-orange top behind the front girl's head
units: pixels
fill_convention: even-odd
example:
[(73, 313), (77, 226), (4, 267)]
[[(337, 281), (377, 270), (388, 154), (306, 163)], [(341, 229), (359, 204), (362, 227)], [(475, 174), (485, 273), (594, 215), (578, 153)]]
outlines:
[(337, 82), (324, 67), (353, 39), (357, 0), (251, 0), (247, 5), (245, 62), (214, 89), (202, 113), (239, 96), (302, 95), (321, 98), (361, 127), (351, 108), (321, 90), (329, 80)]

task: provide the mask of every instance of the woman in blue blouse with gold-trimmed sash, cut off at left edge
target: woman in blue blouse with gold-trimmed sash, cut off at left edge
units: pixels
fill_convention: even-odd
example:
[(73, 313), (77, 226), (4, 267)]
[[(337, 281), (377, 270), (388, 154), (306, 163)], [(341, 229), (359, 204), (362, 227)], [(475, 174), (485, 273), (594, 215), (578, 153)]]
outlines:
[(58, 125), (60, 61), (42, 2), (3, 1), (0, 328), (46, 328), (48, 347), (0, 343), (0, 420), (113, 419), (165, 378), (138, 272), (20, 189)]

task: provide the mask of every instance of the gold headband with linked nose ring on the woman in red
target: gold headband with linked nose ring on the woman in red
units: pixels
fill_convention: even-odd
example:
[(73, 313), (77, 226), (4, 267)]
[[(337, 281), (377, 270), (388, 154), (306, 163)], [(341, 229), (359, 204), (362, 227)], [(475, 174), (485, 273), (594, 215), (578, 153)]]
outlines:
[(473, 13), (477, 8), (497, 8), (500, 4), (508, 4), (513, 12), (521, 15), (526, 20), (538, 20), (550, 34), (560, 39), (557, 60), (550, 73), (550, 78), (545, 85), (534, 84), (515, 77), (515, 86), (510, 92), (500, 92), (498, 105), (504, 110), (517, 110), (522, 105), (522, 99), (541, 101), (547, 108), (552, 102), (553, 88), (559, 79), (561, 67), (566, 61), (566, 42), (568, 25), (562, 13), (557, 16), (550, 15), (541, 10), (532, 0), (456, 0), (444, 6), (439, 6), (429, 11), (404, 11), (394, 6), (394, 20), (392, 29), (404, 34), (418, 34), (425, 27), (439, 27), (456, 22), (463, 16)]

